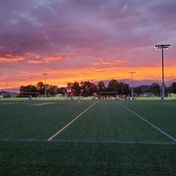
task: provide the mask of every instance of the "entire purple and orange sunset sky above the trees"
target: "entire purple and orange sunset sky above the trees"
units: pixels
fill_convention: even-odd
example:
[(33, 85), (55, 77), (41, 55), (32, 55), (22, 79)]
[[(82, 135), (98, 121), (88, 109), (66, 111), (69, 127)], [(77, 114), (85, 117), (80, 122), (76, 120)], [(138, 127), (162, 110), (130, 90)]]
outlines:
[[(175, 0), (0, 0), (0, 90), (176, 81)], [(47, 74), (46, 77), (44, 74)]]

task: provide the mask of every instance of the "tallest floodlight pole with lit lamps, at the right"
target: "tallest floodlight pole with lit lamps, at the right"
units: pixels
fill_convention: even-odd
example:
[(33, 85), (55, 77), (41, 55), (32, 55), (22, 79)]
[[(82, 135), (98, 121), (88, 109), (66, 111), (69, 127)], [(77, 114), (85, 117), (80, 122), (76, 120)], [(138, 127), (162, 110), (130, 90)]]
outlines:
[(155, 45), (156, 49), (162, 50), (162, 94), (161, 94), (161, 100), (164, 100), (164, 92), (165, 92), (165, 84), (164, 84), (164, 49), (168, 49), (170, 47), (169, 44), (161, 44), (161, 45)]

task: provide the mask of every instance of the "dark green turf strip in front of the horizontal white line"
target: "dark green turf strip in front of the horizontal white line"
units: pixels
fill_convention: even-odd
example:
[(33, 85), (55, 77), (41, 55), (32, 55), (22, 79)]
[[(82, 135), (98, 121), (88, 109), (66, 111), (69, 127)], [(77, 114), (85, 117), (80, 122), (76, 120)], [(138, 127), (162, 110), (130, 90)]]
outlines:
[(175, 175), (172, 145), (1, 142), (9, 176)]

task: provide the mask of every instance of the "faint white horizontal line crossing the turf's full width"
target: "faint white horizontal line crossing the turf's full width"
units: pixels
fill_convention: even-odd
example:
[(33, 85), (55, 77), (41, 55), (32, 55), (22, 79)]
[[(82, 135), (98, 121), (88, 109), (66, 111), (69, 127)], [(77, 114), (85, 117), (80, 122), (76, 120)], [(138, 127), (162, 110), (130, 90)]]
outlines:
[(175, 142), (148, 142), (148, 141), (97, 141), (97, 140), (52, 140), (45, 139), (0, 139), (0, 142), (52, 142), (52, 143), (93, 143), (93, 144), (131, 144), (131, 145), (176, 145)]

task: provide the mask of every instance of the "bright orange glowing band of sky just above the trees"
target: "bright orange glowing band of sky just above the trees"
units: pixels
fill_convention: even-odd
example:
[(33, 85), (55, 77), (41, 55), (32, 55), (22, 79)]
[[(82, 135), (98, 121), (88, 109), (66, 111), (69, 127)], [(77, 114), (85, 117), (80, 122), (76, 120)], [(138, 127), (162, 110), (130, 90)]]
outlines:
[[(176, 69), (176, 67), (168, 67), (165, 69), (165, 80), (172, 81), (172, 74), (173, 70)], [(92, 71), (93, 69), (85, 70), (85, 69), (72, 69), (72, 70), (61, 70), (58, 72), (46, 72), (48, 75), (46, 76), (46, 82), (50, 85), (57, 85), (59, 87), (64, 87), (67, 85), (68, 82), (81, 82), (81, 81), (92, 81), (92, 82), (98, 82), (98, 81), (107, 81), (111, 79), (116, 79), (117, 81), (123, 81), (130, 80), (131, 75), (129, 72), (135, 71), (134, 74), (134, 84), (136, 81), (142, 81), (142, 80), (151, 80), (153, 83), (161, 82), (161, 67), (153, 67), (153, 68), (137, 68), (137, 69), (129, 69), (129, 68), (123, 68), (120, 72), (118, 72), (119, 69), (116, 68), (106, 68), (105, 69), (96, 69), (96, 71)], [(94, 72), (99, 72), (96, 75)], [(103, 72), (103, 75), (102, 75)], [(4, 83), (4, 89), (11, 88), (11, 87), (20, 87), (20, 86), (27, 86), (27, 85), (36, 85), (39, 81), (45, 82), (45, 78), (42, 75), (44, 72), (37, 73), (37, 74), (25, 74), (25, 75), (13, 75), (12, 78), (14, 81), (5, 82)], [(58, 75), (61, 75), (60, 77)], [(106, 75), (106, 76), (105, 76)], [(4, 78), (5, 79), (5, 78)], [(16, 79), (18, 79), (16, 81)], [(174, 80), (173, 80), (174, 81)], [(16, 85), (16, 86), (14, 86)], [(2, 88), (3, 89), (3, 88)]]

